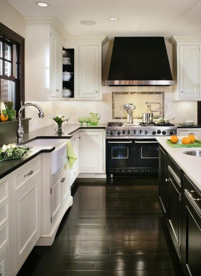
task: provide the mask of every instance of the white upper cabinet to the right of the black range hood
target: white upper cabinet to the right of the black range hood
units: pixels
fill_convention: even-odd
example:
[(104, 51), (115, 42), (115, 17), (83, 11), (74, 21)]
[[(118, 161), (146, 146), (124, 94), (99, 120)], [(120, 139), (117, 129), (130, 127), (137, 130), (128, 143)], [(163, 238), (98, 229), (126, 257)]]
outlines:
[(173, 46), (174, 100), (200, 101), (201, 37), (171, 37)]

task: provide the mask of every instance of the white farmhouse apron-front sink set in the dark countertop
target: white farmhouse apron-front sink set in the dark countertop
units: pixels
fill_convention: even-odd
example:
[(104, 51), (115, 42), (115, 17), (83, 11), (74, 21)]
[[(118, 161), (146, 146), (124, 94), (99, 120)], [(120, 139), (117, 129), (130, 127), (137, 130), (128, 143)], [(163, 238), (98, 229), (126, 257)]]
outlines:
[(33, 147), (54, 146), (55, 150), (51, 152), (52, 158), (52, 175), (56, 174), (68, 162), (67, 158), (67, 144), (69, 139), (47, 139), (38, 138), (25, 143)]

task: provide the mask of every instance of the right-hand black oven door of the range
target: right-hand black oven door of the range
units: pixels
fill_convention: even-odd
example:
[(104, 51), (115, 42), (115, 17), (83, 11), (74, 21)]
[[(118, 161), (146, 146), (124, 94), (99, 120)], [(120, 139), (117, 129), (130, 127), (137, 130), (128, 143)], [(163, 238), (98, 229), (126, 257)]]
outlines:
[(135, 167), (158, 170), (158, 142), (155, 139), (135, 140)]

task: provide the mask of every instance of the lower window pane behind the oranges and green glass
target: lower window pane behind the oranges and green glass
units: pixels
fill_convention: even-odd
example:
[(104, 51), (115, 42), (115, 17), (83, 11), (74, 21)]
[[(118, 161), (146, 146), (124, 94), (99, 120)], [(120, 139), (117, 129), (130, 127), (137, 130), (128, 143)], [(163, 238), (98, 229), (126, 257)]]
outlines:
[(13, 101), (14, 109), (16, 103), (16, 85), (15, 81), (0, 79), (1, 82), (1, 109), (5, 109), (4, 101)]

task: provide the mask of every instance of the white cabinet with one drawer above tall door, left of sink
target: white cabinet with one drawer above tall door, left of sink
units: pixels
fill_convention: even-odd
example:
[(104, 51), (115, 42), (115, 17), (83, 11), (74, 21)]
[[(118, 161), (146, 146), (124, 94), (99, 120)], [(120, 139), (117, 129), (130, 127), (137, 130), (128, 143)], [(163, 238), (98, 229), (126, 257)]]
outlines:
[(14, 172), (12, 197), (14, 266), (17, 273), (41, 234), (40, 156)]

